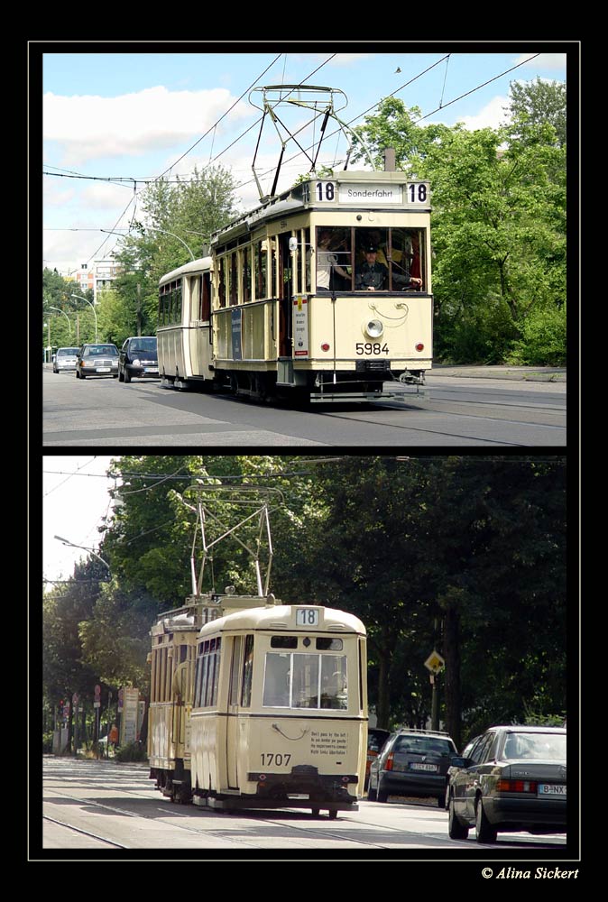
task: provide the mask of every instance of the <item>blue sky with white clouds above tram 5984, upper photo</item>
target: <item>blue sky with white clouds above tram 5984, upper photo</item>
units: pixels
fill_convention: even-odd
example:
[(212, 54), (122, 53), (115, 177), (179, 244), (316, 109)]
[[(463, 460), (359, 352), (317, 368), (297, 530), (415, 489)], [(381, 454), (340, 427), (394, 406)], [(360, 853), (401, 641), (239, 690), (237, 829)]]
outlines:
[[(266, 120), (260, 136), (262, 113), (250, 97), (260, 105), (262, 94), (254, 87), (334, 87), (343, 92), (336, 108), (345, 104), (338, 115), (352, 125), (394, 93), (406, 106), (419, 106), (424, 124), (475, 129), (504, 122), (511, 81), (537, 77), (565, 81), (566, 53), (546, 52), (542, 42), (531, 50), (514, 42), (512, 51), (501, 45), (497, 52), (457, 46), (412, 52), (407, 45), (357, 53), (280, 46), (238, 53), (65, 52), (64, 45), (53, 52), (51, 45), (42, 56), (42, 266), (67, 276), (82, 263), (106, 259), (119, 238), (101, 229), (123, 232), (142, 218), (146, 181), (162, 173), (188, 178), (195, 167), (225, 166), (241, 186), (240, 208), (255, 207), (256, 143), (260, 138), (255, 172), (266, 191), (287, 135)], [(310, 119), (299, 108), (277, 113), (292, 130)], [(304, 147), (318, 141), (318, 124), (298, 140)], [(298, 150), (287, 143), (279, 190), (309, 169)], [(329, 137), (318, 161), (343, 160), (345, 150), (344, 138)]]

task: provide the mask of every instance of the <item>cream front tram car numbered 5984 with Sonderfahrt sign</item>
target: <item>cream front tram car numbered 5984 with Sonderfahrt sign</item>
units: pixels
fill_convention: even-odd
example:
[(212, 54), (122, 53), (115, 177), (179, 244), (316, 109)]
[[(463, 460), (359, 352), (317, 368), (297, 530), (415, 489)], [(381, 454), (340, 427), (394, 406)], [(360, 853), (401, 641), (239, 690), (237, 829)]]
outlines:
[(423, 385), (429, 200), (428, 182), (403, 172), (334, 170), (213, 235), (216, 381), (317, 401), (377, 397), (397, 380)]

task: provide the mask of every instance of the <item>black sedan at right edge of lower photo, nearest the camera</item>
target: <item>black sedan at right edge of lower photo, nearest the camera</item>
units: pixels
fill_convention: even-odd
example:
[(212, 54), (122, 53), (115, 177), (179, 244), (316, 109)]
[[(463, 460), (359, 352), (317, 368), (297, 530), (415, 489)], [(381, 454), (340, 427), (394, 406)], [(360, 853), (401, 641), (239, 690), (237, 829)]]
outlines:
[(474, 826), (477, 842), (500, 832), (566, 831), (566, 730), (496, 726), (452, 761), (447, 790), (453, 840)]

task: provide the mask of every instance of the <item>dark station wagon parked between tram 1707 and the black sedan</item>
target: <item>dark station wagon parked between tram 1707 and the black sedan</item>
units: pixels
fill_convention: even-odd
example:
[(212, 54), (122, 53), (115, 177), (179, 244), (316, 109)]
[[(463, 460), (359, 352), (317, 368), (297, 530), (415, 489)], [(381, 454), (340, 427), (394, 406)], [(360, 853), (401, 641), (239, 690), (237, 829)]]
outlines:
[(446, 732), (402, 728), (392, 733), (372, 761), (367, 797), (386, 802), (388, 796), (434, 796), (443, 808), (447, 769), (456, 754)]

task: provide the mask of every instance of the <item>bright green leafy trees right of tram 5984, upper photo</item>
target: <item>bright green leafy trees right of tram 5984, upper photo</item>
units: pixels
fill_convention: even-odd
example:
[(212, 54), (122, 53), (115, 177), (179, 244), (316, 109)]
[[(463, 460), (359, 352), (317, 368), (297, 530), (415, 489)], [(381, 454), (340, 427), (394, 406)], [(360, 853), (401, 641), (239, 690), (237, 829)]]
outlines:
[[(469, 132), (419, 125), (418, 107), (387, 97), (356, 131), (379, 168), (393, 147), (398, 169), (430, 181), (438, 358), (564, 364), (566, 88), (513, 82), (508, 112), (502, 128)], [(545, 359), (549, 343), (526, 353), (530, 318), (553, 336)]]

